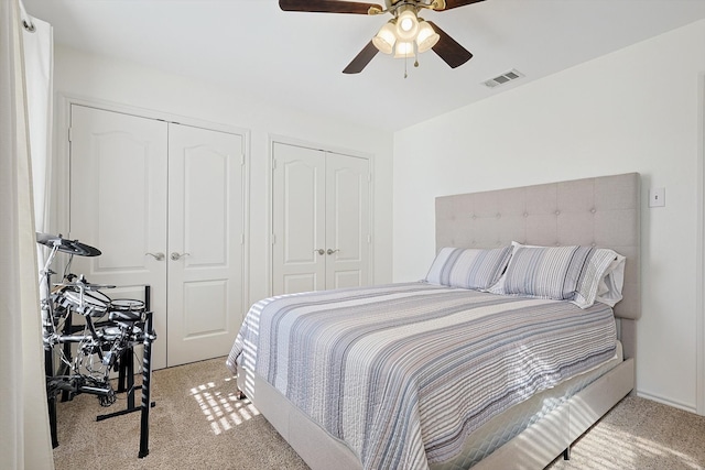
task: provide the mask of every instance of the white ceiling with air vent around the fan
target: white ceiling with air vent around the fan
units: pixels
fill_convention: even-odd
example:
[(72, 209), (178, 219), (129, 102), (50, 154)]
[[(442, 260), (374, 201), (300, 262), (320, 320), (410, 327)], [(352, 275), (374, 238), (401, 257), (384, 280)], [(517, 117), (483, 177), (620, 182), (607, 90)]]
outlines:
[[(341, 73), (387, 14), (283, 12), (276, 0), (23, 3), (52, 23), (57, 44), (389, 131), (705, 18), (705, 0), (486, 0), (427, 11), (421, 15), (475, 56), (452, 69), (430, 51), (404, 78), (404, 61), (381, 53), (361, 74)], [(525, 77), (481, 85), (512, 68)]]

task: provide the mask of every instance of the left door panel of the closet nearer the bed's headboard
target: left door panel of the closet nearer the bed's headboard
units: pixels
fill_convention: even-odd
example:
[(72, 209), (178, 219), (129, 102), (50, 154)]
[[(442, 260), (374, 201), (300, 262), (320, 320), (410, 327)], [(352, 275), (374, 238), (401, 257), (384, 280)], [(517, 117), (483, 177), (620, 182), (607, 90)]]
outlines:
[(274, 142), (273, 154), (273, 293), (324, 289), (325, 152)]

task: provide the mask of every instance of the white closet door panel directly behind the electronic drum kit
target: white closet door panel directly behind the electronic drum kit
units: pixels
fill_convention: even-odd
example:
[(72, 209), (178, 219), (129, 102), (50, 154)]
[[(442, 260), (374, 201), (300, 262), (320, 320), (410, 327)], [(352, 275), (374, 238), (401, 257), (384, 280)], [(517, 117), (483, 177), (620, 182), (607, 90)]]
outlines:
[(143, 299), (143, 285), (151, 286), (160, 335), (152, 364), (164, 368), (166, 260), (148, 253), (166, 248), (167, 124), (77, 105), (70, 122), (70, 232), (64, 236), (102, 252), (74, 256), (70, 272), (120, 286), (101, 289), (112, 298)]

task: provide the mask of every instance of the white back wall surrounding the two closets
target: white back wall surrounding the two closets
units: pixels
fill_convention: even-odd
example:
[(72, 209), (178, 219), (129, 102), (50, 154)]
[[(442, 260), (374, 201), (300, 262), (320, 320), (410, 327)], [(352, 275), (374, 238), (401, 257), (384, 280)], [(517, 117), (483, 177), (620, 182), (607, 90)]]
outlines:
[[(373, 167), (373, 280), (391, 282), (392, 135), (302, 110), (282, 109), (258, 99), (252, 90), (231, 89), (175, 76), (130, 62), (56, 46), (54, 89), (56, 127), (61, 127), (61, 97), (78, 97), (158, 113), (183, 116), (242, 128), (250, 135), (250, 303), (269, 295), (270, 139), (284, 136), (334, 150), (371, 155)], [(61, 129), (57, 129), (62, 131)], [(56, 132), (57, 149), (65, 133)], [(66, 233), (55, 223), (53, 231)]]

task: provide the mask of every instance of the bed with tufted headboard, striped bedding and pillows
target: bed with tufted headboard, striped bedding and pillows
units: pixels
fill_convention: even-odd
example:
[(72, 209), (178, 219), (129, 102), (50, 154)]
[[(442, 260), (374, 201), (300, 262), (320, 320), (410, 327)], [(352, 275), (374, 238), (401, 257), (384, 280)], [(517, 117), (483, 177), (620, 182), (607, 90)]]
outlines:
[(639, 201), (636, 173), (438, 197), (425, 280), (263, 299), (227, 365), (313, 469), (544, 468), (633, 389)]

